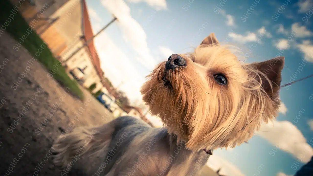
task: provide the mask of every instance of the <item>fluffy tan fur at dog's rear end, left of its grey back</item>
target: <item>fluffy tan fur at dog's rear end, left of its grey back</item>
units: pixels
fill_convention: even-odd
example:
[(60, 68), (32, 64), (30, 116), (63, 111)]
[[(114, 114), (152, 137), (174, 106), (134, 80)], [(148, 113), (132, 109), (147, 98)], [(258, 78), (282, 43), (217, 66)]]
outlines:
[(54, 165), (64, 168), (70, 162), (92, 159), (107, 152), (114, 129), (115, 121), (111, 121), (97, 127), (77, 127), (71, 133), (60, 135), (52, 145)]

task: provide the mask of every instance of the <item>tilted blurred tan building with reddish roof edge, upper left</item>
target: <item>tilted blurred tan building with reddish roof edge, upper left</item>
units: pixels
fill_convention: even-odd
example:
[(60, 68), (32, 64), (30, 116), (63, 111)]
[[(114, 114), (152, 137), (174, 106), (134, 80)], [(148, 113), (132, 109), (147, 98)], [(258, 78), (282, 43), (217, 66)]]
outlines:
[(100, 68), (100, 59), (93, 41), (70, 57), (94, 35), (85, 0), (11, 2), (19, 7), (20, 13), (54, 56), (64, 62), (67, 71), (79, 67), (85, 73), (83, 85), (86, 88), (96, 83), (93, 93), (99, 90), (108, 92), (104, 87), (104, 72)]

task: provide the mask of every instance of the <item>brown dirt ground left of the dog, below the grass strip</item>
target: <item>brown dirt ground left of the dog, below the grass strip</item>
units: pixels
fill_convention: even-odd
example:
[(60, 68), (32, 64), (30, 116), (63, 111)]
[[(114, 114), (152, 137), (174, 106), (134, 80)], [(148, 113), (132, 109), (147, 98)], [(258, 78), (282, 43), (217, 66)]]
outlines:
[(51, 169), (53, 140), (81, 125), (113, 116), (87, 91), (80, 101), (51, 78), (15, 40), (0, 36), (0, 174), (59, 175)]

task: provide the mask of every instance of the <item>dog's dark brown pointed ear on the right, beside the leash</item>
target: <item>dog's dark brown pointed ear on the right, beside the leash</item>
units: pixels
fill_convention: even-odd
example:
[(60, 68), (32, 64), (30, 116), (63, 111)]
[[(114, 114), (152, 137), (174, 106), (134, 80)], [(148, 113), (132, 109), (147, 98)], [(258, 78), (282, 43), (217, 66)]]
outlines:
[[(269, 97), (277, 99), (279, 97), (281, 71), (285, 64), (285, 57), (279, 56), (264, 62), (249, 64), (263, 74), (259, 74), (262, 80), (262, 87)], [(269, 80), (267, 80), (266, 76)], [(256, 77), (260, 81), (259, 77)]]

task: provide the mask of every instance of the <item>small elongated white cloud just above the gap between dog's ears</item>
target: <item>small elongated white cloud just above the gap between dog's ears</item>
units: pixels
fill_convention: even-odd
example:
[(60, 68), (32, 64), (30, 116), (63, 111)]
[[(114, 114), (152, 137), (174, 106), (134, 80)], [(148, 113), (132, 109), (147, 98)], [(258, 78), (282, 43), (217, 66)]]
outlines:
[(259, 28), (256, 32), (247, 32), (246, 35), (236, 34), (236, 33), (232, 33), (232, 32), (228, 34), (228, 36), (233, 38), (233, 40), (235, 40), (237, 42), (241, 42), (241, 43), (258, 41), (259, 40), (258, 35), (260, 35), (260, 36), (265, 35), (267, 38), (272, 37), (272, 35), (269, 32), (266, 32), (264, 26)]

